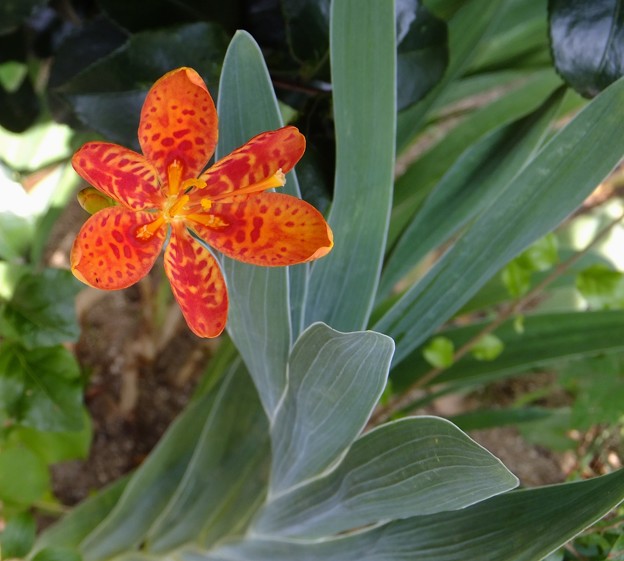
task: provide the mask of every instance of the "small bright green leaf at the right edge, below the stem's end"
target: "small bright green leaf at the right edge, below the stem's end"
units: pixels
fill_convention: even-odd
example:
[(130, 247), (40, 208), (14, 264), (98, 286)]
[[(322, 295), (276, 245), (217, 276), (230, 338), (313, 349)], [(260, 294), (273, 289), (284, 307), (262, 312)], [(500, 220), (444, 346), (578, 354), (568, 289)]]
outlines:
[(593, 310), (624, 308), (624, 273), (596, 264), (581, 271), (576, 287)]

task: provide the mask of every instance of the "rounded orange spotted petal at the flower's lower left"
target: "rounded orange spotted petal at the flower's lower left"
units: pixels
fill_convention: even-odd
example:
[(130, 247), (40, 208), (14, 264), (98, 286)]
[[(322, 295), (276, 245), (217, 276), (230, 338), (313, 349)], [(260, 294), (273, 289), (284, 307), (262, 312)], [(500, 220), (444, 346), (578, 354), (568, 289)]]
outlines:
[(162, 248), (166, 229), (149, 240), (136, 236), (139, 227), (154, 220), (149, 212), (109, 207), (82, 226), (71, 250), (71, 267), (82, 282), (104, 290), (126, 288), (150, 271)]

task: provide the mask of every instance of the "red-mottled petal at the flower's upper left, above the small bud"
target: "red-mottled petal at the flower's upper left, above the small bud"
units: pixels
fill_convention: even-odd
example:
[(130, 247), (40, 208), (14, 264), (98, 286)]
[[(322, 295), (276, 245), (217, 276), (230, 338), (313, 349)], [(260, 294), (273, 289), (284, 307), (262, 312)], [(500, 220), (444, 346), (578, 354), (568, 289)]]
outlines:
[(87, 183), (133, 210), (160, 208), (158, 172), (141, 154), (110, 142), (87, 142), (72, 158)]

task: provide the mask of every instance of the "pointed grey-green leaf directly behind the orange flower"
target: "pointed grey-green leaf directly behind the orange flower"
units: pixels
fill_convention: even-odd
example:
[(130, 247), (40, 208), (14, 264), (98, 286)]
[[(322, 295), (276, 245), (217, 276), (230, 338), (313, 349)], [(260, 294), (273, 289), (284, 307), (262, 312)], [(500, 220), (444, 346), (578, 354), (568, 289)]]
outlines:
[[(217, 159), (252, 136), (279, 128), (279, 107), (262, 53), (253, 38), (238, 32), (232, 39), (219, 84), (219, 145)], [(294, 172), (284, 192), (298, 195)], [(230, 293), (228, 332), (258, 388), (271, 417), (286, 385), (286, 362), (291, 345), (289, 288), (301, 296), (306, 266), (266, 268), (226, 257), (223, 270)], [(300, 306), (294, 300), (294, 308)], [(297, 329), (297, 322), (293, 324)]]

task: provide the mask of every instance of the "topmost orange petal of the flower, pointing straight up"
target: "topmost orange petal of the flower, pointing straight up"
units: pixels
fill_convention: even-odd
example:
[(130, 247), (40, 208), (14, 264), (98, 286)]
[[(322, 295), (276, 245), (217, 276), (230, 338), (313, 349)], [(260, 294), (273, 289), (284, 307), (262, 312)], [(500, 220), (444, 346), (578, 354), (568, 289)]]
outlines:
[(217, 135), (217, 110), (195, 70), (172, 70), (152, 86), (141, 111), (139, 142), (161, 177), (174, 160), (182, 164), (182, 181), (197, 177), (214, 153)]

